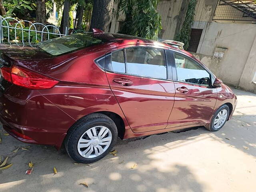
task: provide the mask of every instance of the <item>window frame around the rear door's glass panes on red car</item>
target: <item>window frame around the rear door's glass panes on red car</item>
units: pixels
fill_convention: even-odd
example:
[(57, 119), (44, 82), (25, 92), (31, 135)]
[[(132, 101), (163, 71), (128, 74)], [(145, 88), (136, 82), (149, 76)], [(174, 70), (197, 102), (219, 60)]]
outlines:
[[(165, 61), (166, 61), (166, 78), (156, 78), (156, 77), (146, 77), (146, 76), (139, 76), (139, 75), (134, 75), (134, 74), (128, 74), (127, 73), (127, 58), (126, 58), (126, 48), (135, 48), (135, 47), (145, 47), (145, 48), (157, 48), (157, 49), (162, 49), (164, 50), (164, 56), (165, 56)], [(125, 61), (125, 73), (122, 72), (114, 72), (112, 70), (108, 70), (106, 66), (111, 64), (111, 56), (113, 52), (124, 50), (124, 61)], [(168, 48), (166, 47), (161, 47), (161, 46), (150, 46), (146, 44), (140, 44), (140, 45), (128, 45), (128, 46), (121, 46), (119, 48), (115, 48), (113, 51), (109, 50), (106, 55), (105, 55), (105, 71), (106, 72), (111, 72), (115, 74), (124, 74), (128, 76), (135, 76), (135, 77), (140, 77), (140, 78), (150, 78), (150, 79), (157, 79), (157, 80), (172, 80), (172, 68), (171, 68), (171, 59), (170, 56), (168, 55)]]

